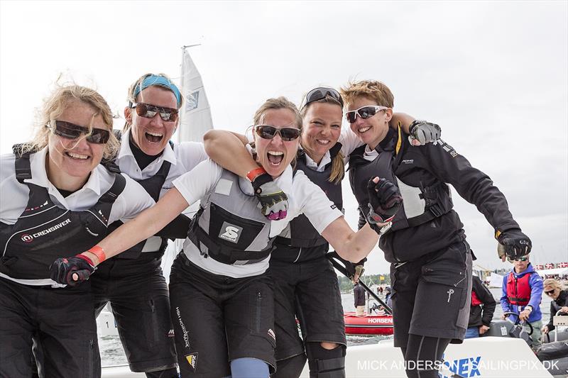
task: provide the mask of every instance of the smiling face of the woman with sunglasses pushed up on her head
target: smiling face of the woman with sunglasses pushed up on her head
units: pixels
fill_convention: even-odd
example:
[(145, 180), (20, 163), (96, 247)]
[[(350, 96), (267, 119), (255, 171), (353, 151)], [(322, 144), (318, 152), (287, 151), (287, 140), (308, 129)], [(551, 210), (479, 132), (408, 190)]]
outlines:
[(342, 131), (342, 108), (336, 104), (314, 102), (302, 118), (302, 148), (318, 164), (332, 148)]

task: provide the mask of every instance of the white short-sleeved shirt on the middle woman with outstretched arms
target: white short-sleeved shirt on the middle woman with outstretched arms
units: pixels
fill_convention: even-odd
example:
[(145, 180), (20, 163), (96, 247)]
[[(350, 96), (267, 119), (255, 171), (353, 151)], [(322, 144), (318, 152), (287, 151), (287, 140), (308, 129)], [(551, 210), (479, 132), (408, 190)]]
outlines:
[[(212, 160), (206, 160), (197, 165), (191, 172), (175, 179), (173, 184), (180, 191), (188, 204), (202, 199), (207, 192), (214, 190), (222, 174), (222, 167)], [(270, 236), (279, 235), (288, 226), (290, 221), (305, 214), (314, 225), (318, 233), (329, 226), (330, 223), (342, 216), (342, 212), (336, 208), (332, 201), (327, 199), (324, 191), (312, 183), (301, 171), (293, 176), (292, 167), (287, 167), (283, 174), (274, 180), (275, 184), (288, 196), (288, 215), (280, 221), (271, 221)], [(239, 186), (245, 194), (253, 195), (253, 188), (247, 179), (239, 177)], [(260, 209), (258, 210), (260, 211)], [(241, 278), (262, 274), (268, 268), (270, 256), (261, 262), (249, 265), (226, 265), (212, 258), (205, 258), (200, 250), (186, 239), (183, 250), (187, 258), (195, 265), (207, 269), (213, 274)]]

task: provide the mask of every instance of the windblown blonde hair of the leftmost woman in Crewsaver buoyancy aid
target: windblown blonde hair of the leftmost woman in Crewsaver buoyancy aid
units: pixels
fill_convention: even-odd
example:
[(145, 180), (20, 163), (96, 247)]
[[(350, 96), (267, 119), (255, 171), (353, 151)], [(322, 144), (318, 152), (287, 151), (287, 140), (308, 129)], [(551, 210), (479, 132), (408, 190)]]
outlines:
[[(20, 145), (17, 150), (18, 154), (23, 155), (26, 152), (37, 152), (45, 148), (45, 146), (48, 145), (49, 135), (51, 132), (50, 123), (61, 116), (67, 107), (72, 106), (74, 101), (81, 101), (84, 104), (91, 106), (92, 109), (96, 111), (93, 118), (96, 116), (102, 117), (102, 121), (109, 130), (110, 138), (104, 145), (103, 158), (107, 159), (116, 155), (120, 144), (119, 140), (116, 139), (116, 136), (112, 132), (114, 115), (103, 96), (94, 89), (82, 87), (76, 84), (57, 85), (58, 86), (55, 88), (55, 91), (43, 100), (43, 106), (40, 111), (38, 111), (38, 115), (36, 117), (36, 126), (38, 127), (38, 130), (33, 136), (33, 139)], [(88, 128), (89, 130), (92, 130), (92, 124), (90, 124)], [(89, 135), (82, 135), (81, 138), (87, 138), (87, 136)]]

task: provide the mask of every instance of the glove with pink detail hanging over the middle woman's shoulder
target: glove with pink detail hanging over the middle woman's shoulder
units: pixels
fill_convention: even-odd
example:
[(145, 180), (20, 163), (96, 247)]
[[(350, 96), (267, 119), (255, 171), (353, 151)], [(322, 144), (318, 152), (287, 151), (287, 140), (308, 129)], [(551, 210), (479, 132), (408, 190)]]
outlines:
[(261, 203), (263, 216), (271, 221), (286, 218), (288, 197), (273, 182), (270, 174), (259, 174), (251, 184), (253, 184), (254, 195)]

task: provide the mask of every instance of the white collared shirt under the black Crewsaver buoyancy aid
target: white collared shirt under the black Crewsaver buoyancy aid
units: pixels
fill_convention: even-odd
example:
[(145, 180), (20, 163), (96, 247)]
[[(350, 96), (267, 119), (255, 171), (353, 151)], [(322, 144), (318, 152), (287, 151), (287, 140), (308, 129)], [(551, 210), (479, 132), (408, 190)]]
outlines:
[[(50, 199), (56, 206), (62, 209), (69, 209), (71, 211), (90, 209), (114, 183), (114, 174), (111, 174), (102, 165), (97, 165), (81, 189), (67, 197), (63, 197), (58, 189), (49, 181), (48, 175), (45, 172), (45, 159), (47, 158), (47, 154), (48, 148), (43, 148), (43, 150), (30, 155), (32, 178), (26, 179), (24, 182), (48, 189)], [(16, 179), (14, 160), (16, 160), (16, 157), (13, 154), (0, 156), (0, 222), (9, 225), (16, 223), (18, 217), (21, 216), (23, 210), (26, 209), (30, 193), (28, 186), (20, 184)], [(123, 174), (123, 176), (126, 178), (126, 186), (114, 201), (109, 215), (109, 224), (119, 220), (128, 221), (154, 204), (152, 197), (140, 184), (126, 176), (126, 174)], [(77, 253), (80, 252), (83, 251), (77, 251)], [(11, 279), (1, 273), (0, 277)], [(18, 279), (11, 280), (23, 284), (56, 284), (50, 279), (46, 279), (46, 282), (43, 283), (23, 282), (28, 280)]]

